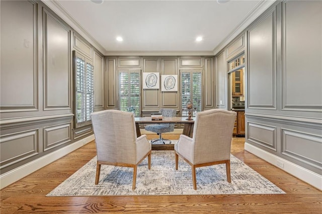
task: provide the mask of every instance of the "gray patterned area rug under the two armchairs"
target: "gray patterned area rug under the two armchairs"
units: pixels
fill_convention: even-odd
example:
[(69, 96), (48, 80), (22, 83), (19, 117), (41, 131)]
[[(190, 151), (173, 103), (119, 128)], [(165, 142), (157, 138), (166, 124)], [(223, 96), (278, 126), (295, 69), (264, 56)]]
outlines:
[(191, 195), (191, 194), (283, 194), (272, 182), (231, 155), (231, 183), (225, 164), (196, 169), (197, 190), (193, 189), (191, 166), (179, 157), (175, 169), (174, 151), (152, 151), (151, 169), (145, 158), (137, 168), (136, 188), (132, 190), (133, 168), (101, 166), (95, 185), (96, 157), (72, 174), (47, 196), (92, 195)]

